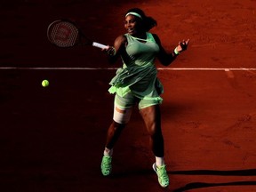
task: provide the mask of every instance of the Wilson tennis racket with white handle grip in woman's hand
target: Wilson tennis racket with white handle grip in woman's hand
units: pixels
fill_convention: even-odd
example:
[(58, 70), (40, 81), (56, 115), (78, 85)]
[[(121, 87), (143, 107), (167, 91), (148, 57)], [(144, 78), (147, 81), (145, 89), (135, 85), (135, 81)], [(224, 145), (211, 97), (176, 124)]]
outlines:
[(93, 42), (84, 36), (76, 24), (70, 20), (54, 20), (47, 28), (47, 37), (52, 44), (58, 47), (92, 45), (100, 49), (108, 48), (107, 45)]

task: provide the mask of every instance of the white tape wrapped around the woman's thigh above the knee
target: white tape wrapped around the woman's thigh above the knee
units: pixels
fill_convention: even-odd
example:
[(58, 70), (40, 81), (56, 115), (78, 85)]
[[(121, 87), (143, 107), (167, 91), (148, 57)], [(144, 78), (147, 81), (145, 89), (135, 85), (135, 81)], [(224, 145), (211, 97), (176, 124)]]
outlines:
[(114, 108), (113, 120), (118, 124), (127, 124), (130, 121), (132, 115), (132, 108), (121, 109), (116, 107)]

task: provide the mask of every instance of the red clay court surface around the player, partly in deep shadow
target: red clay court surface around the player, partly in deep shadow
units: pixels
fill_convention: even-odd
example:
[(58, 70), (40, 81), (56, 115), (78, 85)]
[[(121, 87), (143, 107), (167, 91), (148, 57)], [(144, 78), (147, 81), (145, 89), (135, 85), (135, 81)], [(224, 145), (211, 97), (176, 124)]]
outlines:
[[(256, 71), (243, 70), (255, 68), (255, 4), (2, 1), (0, 190), (255, 192)], [(97, 48), (52, 46), (46, 28), (52, 20), (69, 18), (95, 41), (112, 44), (125, 32), (124, 12), (132, 7), (158, 21), (152, 32), (167, 50), (182, 39), (191, 42), (168, 67), (172, 70), (159, 70), (164, 84), (165, 162), (171, 180), (166, 189), (159, 187), (151, 169), (154, 156), (137, 110), (116, 145), (113, 175), (101, 176), (113, 105), (108, 82), (115, 70), (28, 69), (108, 68)], [(50, 81), (47, 88), (41, 86), (44, 79)]]

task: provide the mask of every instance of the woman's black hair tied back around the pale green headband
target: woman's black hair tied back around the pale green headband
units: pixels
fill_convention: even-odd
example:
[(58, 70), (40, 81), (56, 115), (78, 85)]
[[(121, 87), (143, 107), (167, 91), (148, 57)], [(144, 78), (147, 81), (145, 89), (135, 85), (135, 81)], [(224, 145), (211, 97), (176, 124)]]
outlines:
[[(132, 8), (128, 10), (128, 12), (136, 12), (140, 14), (142, 18), (141, 23), (146, 31), (149, 31), (151, 28), (154, 28), (157, 25), (156, 20), (154, 20), (152, 17), (146, 16), (145, 12), (143, 12), (140, 8)], [(128, 12), (126, 12), (126, 14)]]

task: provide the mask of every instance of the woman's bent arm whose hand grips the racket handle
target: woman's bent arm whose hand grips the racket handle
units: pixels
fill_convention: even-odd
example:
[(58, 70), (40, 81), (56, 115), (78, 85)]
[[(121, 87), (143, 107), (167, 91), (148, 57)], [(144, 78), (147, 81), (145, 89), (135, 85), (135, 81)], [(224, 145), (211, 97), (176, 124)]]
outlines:
[(115, 63), (122, 52), (124, 52), (126, 42), (127, 39), (125, 36), (117, 36), (114, 45), (104, 49), (104, 51), (108, 53), (108, 60), (110, 63)]

